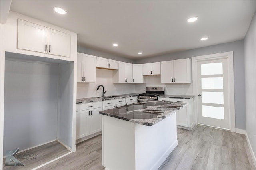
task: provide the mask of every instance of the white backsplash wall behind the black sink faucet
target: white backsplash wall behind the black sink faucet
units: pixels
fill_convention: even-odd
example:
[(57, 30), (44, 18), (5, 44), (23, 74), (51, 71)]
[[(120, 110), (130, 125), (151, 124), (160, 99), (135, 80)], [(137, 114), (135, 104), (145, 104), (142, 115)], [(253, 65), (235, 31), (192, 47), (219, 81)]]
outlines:
[(135, 85), (131, 83), (112, 83), (113, 71), (96, 69), (96, 83), (77, 83), (77, 99), (102, 96), (102, 87), (96, 90), (98, 85), (103, 85), (105, 96), (135, 93)]

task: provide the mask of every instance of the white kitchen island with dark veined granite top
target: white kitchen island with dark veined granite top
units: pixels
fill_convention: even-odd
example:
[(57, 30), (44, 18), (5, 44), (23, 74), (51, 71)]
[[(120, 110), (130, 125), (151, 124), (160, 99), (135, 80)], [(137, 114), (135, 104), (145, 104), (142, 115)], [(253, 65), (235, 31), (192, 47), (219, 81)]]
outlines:
[(176, 111), (186, 103), (142, 101), (102, 114), (106, 170), (155, 170), (178, 145)]

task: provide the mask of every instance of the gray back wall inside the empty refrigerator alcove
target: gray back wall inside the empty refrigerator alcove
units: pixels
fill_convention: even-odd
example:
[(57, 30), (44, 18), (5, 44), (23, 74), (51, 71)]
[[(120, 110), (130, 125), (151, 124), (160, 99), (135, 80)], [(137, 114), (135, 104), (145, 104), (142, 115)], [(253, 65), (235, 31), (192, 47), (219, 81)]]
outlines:
[(4, 86), (3, 154), (56, 140), (58, 65), (6, 60)]

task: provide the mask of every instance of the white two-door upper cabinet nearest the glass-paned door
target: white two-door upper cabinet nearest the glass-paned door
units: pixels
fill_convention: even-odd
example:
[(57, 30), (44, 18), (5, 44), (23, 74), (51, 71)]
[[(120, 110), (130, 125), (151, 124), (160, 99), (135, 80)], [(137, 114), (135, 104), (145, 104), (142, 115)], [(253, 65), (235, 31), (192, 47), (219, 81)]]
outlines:
[(161, 62), (161, 83), (191, 83), (191, 59)]

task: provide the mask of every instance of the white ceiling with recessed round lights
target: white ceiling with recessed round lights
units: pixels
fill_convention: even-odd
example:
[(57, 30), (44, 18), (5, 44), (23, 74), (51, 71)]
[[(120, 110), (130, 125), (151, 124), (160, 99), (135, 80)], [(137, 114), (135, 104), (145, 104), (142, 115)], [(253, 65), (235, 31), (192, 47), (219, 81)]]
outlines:
[(256, 0), (12, 0), (10, 10), (76, 32), (79, 46), (140, 59), (244, 39)]

